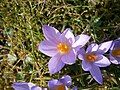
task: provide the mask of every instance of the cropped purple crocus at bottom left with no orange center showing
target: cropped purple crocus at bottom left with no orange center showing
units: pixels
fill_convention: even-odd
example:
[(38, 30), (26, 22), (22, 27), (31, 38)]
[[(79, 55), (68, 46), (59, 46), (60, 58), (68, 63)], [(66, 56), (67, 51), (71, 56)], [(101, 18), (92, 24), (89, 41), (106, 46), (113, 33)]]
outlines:
[(15, 82), (12, 85), (12, 87), (14, 88), (14, 90), (43, 90), (41, 87), (38, 87), (35, 84), (30, 83), (30, 82), (29, 83), (27, 83), (27, 82)]

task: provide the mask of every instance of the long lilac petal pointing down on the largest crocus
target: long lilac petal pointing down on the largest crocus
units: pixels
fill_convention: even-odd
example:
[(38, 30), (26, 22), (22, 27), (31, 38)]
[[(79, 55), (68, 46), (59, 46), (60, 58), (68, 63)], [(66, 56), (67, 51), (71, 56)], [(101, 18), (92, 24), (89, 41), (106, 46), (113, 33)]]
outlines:
[(49, 72), (51, 74), (54, 74), (54, 73), (60, 71), (64, 67), (65, 63), (62, 62), (61, 57), (62, 56), (59, 55), (59, 53), (58, 53), (50, 59), (50, 61), (48, 63), (48, 68), (49, 68)]

